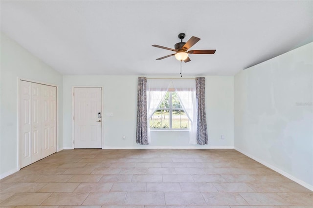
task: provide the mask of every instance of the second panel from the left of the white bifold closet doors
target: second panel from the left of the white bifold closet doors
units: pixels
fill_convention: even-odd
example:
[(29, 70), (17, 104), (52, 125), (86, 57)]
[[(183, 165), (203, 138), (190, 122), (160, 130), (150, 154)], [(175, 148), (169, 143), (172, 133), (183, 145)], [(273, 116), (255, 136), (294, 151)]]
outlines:
[(31, 83), (31, 163), (41, 159), (41, 84)]

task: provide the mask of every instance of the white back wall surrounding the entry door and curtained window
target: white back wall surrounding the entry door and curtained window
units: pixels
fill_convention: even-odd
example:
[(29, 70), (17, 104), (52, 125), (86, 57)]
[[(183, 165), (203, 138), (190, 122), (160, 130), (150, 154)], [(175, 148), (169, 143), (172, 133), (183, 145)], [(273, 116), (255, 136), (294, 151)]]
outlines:
[[(173, 78), (173, 77), (172, 77)], [(186, 77), (185, 77), (186, 78)], [(233, 148), (233, 77), (206, 76), (209, 145), (189, 145), (187, 131), (152, 132), (152, 143), (135, 142), (138, 76), (64, 76), (64, 148), (72, 148), (72, 87), (103, 87), (103, 148)], [(113, 117), (106, 116), (113, 113)], [(221, 140), (221, 134), (225, 139)], [(122, 136), (126, 139), (123, 140)]]

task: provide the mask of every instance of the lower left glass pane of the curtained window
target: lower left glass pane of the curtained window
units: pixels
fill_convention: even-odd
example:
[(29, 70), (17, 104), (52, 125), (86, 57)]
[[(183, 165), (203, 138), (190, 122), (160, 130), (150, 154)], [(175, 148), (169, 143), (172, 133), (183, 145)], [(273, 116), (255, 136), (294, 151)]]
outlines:
[(170, 113), (168, 110), (156, 110), (149, 120), (150, 128), (170, 128)]

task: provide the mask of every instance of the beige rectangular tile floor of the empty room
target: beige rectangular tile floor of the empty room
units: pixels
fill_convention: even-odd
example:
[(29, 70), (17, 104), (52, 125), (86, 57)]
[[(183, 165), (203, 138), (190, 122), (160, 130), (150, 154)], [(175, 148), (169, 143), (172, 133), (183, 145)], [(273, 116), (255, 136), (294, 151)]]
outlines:
[(313, 192), (233, 149), (75, 149), (0, 180), (0, 205), (313, 208)]

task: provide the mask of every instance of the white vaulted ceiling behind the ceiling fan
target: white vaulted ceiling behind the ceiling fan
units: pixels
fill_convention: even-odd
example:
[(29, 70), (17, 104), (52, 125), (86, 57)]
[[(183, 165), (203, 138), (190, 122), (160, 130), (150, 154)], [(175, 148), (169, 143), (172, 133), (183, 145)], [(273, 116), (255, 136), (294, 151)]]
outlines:
[(1, 31), (66, 75), (178, 75), (178, 34), (201, 38), (185, 75), (234, 75), (313, 41), (313, 1), (0, 1)]

